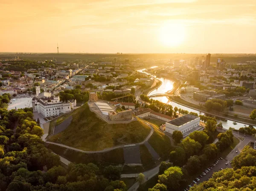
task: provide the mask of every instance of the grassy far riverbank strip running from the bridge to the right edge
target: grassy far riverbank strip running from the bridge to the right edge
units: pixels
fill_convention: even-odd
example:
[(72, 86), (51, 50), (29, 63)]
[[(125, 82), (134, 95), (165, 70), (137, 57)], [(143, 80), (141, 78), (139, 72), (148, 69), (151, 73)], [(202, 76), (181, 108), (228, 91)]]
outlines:
[(200, 112), (203, 112), (205, 114), (209, 114), (209, 115), (212, 115), (212, 116), (215, 116), (215, 117), (235, 121), (235, 122), (238, 122), (238, 123), (244, 123), (246, 125), (253, 125), (253, 126), (256, 125), (256, 121), (253, 121), (253, 120), (250, 120), (250, 119), (246, 119), (246, 118), (242, 118), (242, 117), (234, 117), (233, 115), (224, 114), (224, 113), (221, 113), (221, 112), (218, 112), (218, 114), (216, 114), (214, 111), (208, 112), (208, 111), (204, 110), (204, 108), (202, 108), (198, 105), (195, 105), (193, 103), (189, 103), (185, 100), (182, 100), (180, 97), (172, 96), (172, 97), (168, 97), (168, 99), (171, 100), (172, 102), (178, 103), (180, 105), (186, 106), (186, 107), (191, 108), (191, 109), (195, 109), (197, 111), (200, 111)]

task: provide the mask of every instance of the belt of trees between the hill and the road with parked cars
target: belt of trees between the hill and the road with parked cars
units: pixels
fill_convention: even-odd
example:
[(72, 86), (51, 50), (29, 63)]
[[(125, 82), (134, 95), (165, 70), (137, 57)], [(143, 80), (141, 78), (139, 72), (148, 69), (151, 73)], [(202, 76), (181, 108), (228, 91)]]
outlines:
[[(209, 161), (217, 158), (233, 143), (231, 130), (218, 134), (218, 142), (212, 143), (215, 130), (194, 131), (183, 139), (175, 150), (170, 152), (169, 162), (162, 162), (159, 170), (159, 184), (149, 191), (180, 191), (190, 182), (191, 176), (197, 174)], [(203, 191), (203, 190), (202, 190)]]

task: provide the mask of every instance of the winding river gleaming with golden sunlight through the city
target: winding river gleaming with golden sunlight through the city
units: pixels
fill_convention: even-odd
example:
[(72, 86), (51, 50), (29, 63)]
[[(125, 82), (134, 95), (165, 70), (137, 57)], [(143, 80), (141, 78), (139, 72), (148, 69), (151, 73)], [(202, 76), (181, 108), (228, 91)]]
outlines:
[[(157, 67), (157, 66), (153, 66), (153, 67), (151, 67), (151, 68), (156, 68), (156, 67)], [(144, 70), (145, 70), (145, 68), (140, 69), (140, 70), (137, 70), (137, 71), (138, 71), (138, 72), (144, 72), (144, 73), (146, 73), (146, 74), (149, 74), (149, 73), (145, 72)], [(151, 75), (151, 74), (149, 74), (149, 75)], [(174, 81), (168, 80), (168, 79), (163, 78), (163, 77), (159, 77), (159, 78), (157, 77), (157, 80), (161, 80), (161, 81), (162, 81), (162, 85), (161, 85), (159, 88), (157, 88), (157, 89), (151, 91), (148, 95), (164, 94), (166, 91), (172, 90)], [(180, 105), (180, 104), (178, 104), (178, 103), (172, 102), (172, 101), (170, 101), (167, 97), (153, 97), (152, 99), (154, 99), (154, 100), (159, 100), (159, 101), (161, 101), (161, 102), (163, 102), (163, 103), (167, 103), (167, 104), (169, 104), (169, 105), (172, 105), (173, 108), (174, 108), (174, 107), (177, 107), (177, 108), (181, 108), (181, 109), (187, 110), (187, 111), (189, 111), (189, 112), (190, 112), (190, 111), (195, 112), (195, 113), (197, 113), (198, 115), (204, 115), (204, 112), (200, 112), (200, 111), (197, 111), (197, 110), (195, 110), (195, 109), (191, 109), (191, 108), (188, 108), (188, 107), (186, 107), (186, 106)], [(217, 120), (217, 121), (218, 121), (218, 123), (219, 123), (219, 122), (222, 122), (223, 128), (225, 128), (225, 129), (229, 129), (230, 127), (235, 128), (235, 129), (239, 129), (239, 128), (241, 128), (241, 127), (244, 127), (244, 125), (245, 125), (245, 124), (243, 124), (243, 123), (237, 123), (236, 125), (234, 125), (234, 124), (233, 124), (234, 121), (231, 121), (231, 120), (227, 120), (227, 122), (221, 121), (221, 120)]]

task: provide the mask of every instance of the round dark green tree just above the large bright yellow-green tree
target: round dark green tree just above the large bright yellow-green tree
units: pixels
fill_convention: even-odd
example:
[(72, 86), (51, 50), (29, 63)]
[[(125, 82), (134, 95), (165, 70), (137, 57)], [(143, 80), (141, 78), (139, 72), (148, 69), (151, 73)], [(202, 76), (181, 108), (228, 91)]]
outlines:
[(186, 162), (186, 151), (182, 147), (175, 148), (174, 151), (170, 152), (169, 160), (175, 166), (184, 165)]

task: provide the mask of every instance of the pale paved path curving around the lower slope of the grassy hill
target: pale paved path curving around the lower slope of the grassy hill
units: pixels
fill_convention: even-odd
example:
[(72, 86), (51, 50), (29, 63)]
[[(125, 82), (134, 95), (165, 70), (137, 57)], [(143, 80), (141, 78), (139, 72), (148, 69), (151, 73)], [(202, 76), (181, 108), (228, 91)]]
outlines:
[(49, 143), (49, 144), (52, 144), (52, 145), (58, 145), (58, 146), (61, 146), (61, 147), (65, 147), (65, 148), (69, 148), (71, 150), (74, 150), (74, 151), (79, 151), (79, 152), (82, 152), (82, 153), (87, 153), (87, 154), (92, 154), (92, 153), (104, 153), (104, 152), (108, 152), (108, 151), (112, 151), (116, 148), (124, 148), (124, 147), (127, 147), (127, 146), (135, 146), (135, 145), (142, 145), (144, 144), (146, 141), (148, 141), (148, 139), (151, 137), (151, 135), (154, 133), (154, 127), (152, 127), (149, 123), (147, 122), (144, 122), (146, 125), (148, 125), (150, 128), (151, 128), (151, 131), (150, 133), (148, 134), (148, 137), (146, 137), (146, 139), (141, 142), (141, 143), (136, 143), (136, 144), (126, 144), (126, 145), (118, 145), (118, 146), (114, 146), (114, 147), (111, 147), (111, 148), (105, 148), (101, 151), (83, 151), (81, 149), (78, 149), (78, 148), (73, 148), (73, 147), (70, 147), (70, 146), (67, 146), (67, 145), (63, 145), (63, 144), (59, 144), (59, 143), (53, 143), (53, 142), (49, 142), (49, 141), (46, 141), (45, 143)]

